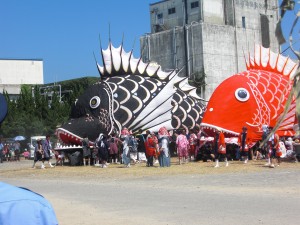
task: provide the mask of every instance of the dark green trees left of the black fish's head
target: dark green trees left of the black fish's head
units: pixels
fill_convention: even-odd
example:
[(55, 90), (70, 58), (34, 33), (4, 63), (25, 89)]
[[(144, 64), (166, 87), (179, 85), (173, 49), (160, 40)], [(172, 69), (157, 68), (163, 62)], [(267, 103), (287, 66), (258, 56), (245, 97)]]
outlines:
[[(98, 80), (93, 77), (60, 82), (62, 89), (67, 90), (62, 101), (56, 89), (50, 88), (48, 93), (41, 93), (42, 88), (45, 88), (43, 85), (22, 85), (16, 100), (4, 92), (8, 114), (1, 124), (0, 133), (4, 137), (54, 134), (55, 129), (68, 120), (75, 99)], [(51, 86), (58, 85), (47, 84), (47, 87)]]

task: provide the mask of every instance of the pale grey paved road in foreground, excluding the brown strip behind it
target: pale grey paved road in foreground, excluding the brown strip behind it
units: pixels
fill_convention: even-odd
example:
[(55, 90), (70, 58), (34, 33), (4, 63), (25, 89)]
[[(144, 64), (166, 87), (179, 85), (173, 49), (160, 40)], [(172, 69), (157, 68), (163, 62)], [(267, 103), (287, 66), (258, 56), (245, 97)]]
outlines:
[(1, 180), (44, 195), (63, 225), (300, 223), (298, 168), (128, 179)]

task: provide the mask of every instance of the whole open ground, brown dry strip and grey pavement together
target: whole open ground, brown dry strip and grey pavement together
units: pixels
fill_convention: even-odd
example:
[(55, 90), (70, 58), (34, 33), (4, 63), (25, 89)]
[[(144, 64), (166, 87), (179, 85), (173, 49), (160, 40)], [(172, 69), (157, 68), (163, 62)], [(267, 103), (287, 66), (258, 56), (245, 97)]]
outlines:
[(31, 160), (0, 164), (0, 180), (52, 204), (59, 224), (299, 224), (300, 163), (265, 161), (214, 168), (111, 164), (31, 169)]

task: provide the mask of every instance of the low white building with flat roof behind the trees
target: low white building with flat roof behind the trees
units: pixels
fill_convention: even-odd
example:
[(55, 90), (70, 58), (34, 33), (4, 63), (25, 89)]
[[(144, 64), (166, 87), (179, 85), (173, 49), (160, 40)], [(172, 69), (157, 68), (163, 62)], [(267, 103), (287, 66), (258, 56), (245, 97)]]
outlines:
[(0, 92), (17, 96), (22, 84), (44, 84), (43, 60), (0, 59)]

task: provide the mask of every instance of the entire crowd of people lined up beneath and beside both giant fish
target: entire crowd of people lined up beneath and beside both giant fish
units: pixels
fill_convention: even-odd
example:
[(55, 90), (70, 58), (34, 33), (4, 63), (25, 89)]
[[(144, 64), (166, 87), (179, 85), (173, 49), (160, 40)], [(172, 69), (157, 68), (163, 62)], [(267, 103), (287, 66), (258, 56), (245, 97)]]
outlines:
[[(297, 154), (295, 145), (299, 140), (293, 140), (292, 137), (279, 139), (275, 133), (268, 137), (272, 132), (272, 127), (265, 127), (262, 140), (255, 145), (251, 145), (247, 136), (247, 127), (242, 127), (237, 143), (225, 143), (225, 137), (220, 129), (216, 129), (215, 136), (211, 140), (203, 139), (206, 134), (201, 128), (191, 130), (168, 131), (161, 127), (158, 132), (146, 130), (133, 134), (127, 128), (123, 128), (120, 135), (112, 133), (109, 136), (99, 134), (94, 141), (94, 146), (87, 135), (82, 139), (82, 163), (81, 165), (99, 165), (101, 168), (108, 167), (109, 164), (123, 164), (124, 167), (145, 162), (147, 167), (153, 167), (158, 164), (160, 167), (169, 167), (171, 165), (171, 156), (177, 156), (178, 164), (184, 164), (191, 161), (215, 162), (215, 167), (220, 167), (220, 162), (224, 162), (225, 167), (229, 166), (229, 161), (238, 160), (247, 164), (248, 160), (266, 160), (266, 166), (275, 168), (279, 166), (282, 158), (282, 148), (285, 149), (284, 158), (295, 162)], [(18, 143), (14, 145), (14, 152), (20, 152)], [(54, 150), (51, 146), (50, 135), (46, 140), (38, 140), (34, 151), (34, 160), (32, 168), (40, 162), (42, 169), (53, 167), (50, 161), (50, 153), (54, 151), (56, 159), (55, 165), (64, 165), (68, 158), (63, 150)], [(7, 145), (3, 145), (0, 140), (1, 162), (4, 159), (11, 159), (11, 153), (8, 153)], [(17, 154), (19, 155), (19, 154)], [(15, 157), (19, 160), (19, 156)], [(79, 165), (80, 165), (79, 164)]]

